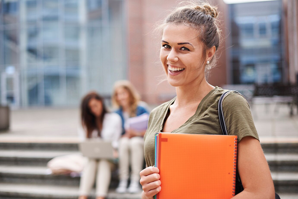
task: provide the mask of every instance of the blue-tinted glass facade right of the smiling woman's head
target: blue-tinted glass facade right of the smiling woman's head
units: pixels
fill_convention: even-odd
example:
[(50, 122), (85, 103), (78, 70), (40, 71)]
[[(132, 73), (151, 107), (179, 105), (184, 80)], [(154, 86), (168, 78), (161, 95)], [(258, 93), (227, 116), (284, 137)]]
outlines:
[(283, 81), (282, 2), (229, 4), (233, 84)]

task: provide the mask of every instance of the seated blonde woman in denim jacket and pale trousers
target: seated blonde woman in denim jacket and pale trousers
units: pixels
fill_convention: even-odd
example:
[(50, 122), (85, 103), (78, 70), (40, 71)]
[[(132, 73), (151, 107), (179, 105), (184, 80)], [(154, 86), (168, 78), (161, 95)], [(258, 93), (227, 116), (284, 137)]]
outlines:
[[(134, 86), (126, 80), (117, 81), (114, 85), (112, 102), (118, 108), (118, 113), (122, 119), (122, 137), (119, 141), (119, 175), (120, 183), (116, 192), (137, 193), (142, 191), (140, 187), (140, 171), (144, 163), (144, 131), (136, 131), (128, 127), (125, 128), (125, 121), (128, 118), (148, 113), (139, 106), (139, 94)], [(129, 158), (131, 156), (131, 158)], [(127, 189), (129, 178), (129, 159), (131, 160), (131, 183)]]

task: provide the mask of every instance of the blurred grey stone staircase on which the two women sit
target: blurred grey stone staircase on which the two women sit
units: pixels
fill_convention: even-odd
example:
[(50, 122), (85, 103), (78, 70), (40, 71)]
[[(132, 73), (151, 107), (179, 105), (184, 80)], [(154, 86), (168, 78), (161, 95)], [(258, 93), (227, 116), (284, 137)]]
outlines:
[[(275, 191), (281, 199), (298, 198), (298, 143), (263, 143)], [(12, 143), (0, 141), (1, 199), (75, 199), (79, 177), (49, 175), (46, 163), (78, 152), (76, 143)], [(140, 194), (117, 194), (112, 174), (108, 199), (140, 199)], [(90, 198), (95, 198), (94, 191)]]

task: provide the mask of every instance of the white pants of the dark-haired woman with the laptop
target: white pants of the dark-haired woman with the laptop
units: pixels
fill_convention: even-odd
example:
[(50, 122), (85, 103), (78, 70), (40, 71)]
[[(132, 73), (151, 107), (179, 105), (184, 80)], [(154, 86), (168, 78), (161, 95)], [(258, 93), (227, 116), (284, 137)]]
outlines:
[(96, 176), (96, 196), (106, 197), (111, 182), (111, 169), (112, 163), (108, 160), (89, 158), (80, 179), (79, 194), (89, 195)]

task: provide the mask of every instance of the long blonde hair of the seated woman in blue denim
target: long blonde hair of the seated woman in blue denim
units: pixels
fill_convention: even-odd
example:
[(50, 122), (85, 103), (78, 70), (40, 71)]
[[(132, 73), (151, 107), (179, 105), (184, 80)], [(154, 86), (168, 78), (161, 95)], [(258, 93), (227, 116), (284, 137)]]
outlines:
[(136, 116), (136, 108), (138, 107), (140, 101), (140, 95), (136, 91), (135, 87), (127, 80), (119, 80), (114, 84), (113, 95), (112, 95), (112, 104), (115, 108), (120, 108), (120, 104), (116, 99), (117, 89), (124, 88), (129, 93), (129, 115), (130, 117)]

